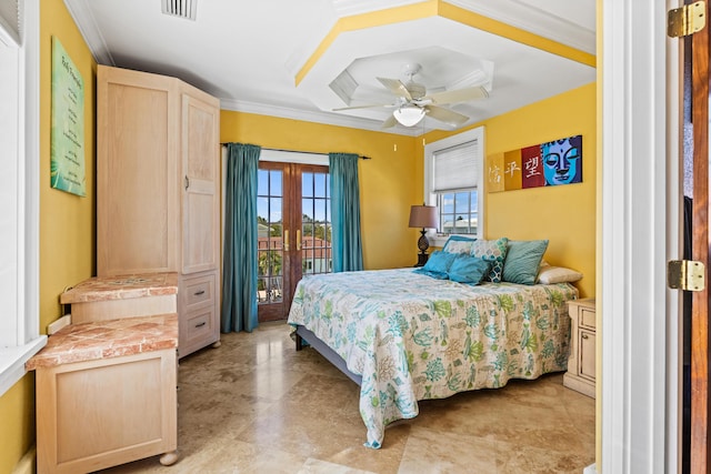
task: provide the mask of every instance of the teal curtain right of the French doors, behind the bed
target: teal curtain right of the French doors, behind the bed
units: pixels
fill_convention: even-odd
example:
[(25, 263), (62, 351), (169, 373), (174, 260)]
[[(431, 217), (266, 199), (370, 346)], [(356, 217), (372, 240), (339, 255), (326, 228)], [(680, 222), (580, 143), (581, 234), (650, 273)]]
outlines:
[(363, 245), (360, 238), (360, 190), (358, 155), (329, 153), (331, 184), (331, 258), (334, 272), (363, 270)]

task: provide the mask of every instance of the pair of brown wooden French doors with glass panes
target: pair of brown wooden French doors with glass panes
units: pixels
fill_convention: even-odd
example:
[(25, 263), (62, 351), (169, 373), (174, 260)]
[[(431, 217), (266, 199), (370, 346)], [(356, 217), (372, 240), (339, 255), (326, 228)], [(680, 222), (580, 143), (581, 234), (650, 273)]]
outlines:
[(259, 321), (284, 320), (302, 275), (332, 269), (328, 167), (260, 162), (257, 229)]

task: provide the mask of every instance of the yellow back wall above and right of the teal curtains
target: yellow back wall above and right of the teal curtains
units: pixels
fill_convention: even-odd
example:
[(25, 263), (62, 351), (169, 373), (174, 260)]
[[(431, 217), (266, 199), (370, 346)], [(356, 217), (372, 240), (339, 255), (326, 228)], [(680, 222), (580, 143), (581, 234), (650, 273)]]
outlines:
[(363, 264), (372, 270), (417, 262), (419, 232), (408, 220), (410, 205), (422, 202), (422, 158), (411, 137), (223, 110), (220, 141), (370, 157), (359, 161)]

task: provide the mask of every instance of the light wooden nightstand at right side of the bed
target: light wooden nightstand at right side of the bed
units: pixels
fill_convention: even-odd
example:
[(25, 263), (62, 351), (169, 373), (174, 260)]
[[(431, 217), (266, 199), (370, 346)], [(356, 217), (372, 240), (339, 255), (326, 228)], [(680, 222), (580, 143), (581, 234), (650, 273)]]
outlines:
[(570, 357), (563, 385), (595, 397), (595, 300), (568, 302), (570, 315)]

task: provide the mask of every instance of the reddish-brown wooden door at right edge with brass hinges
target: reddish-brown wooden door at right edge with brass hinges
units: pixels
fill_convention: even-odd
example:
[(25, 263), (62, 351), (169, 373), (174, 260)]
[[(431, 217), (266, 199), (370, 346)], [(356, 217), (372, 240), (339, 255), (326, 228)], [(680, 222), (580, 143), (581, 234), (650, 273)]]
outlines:
[[(709, 6), (707, 3), (707, 18)], [(690, 472), (705, 474), (709, 462), (709, 26), (690, 39), (693, 198), (691, 259), (707, 269), (707, 289), (691, 295)]]

